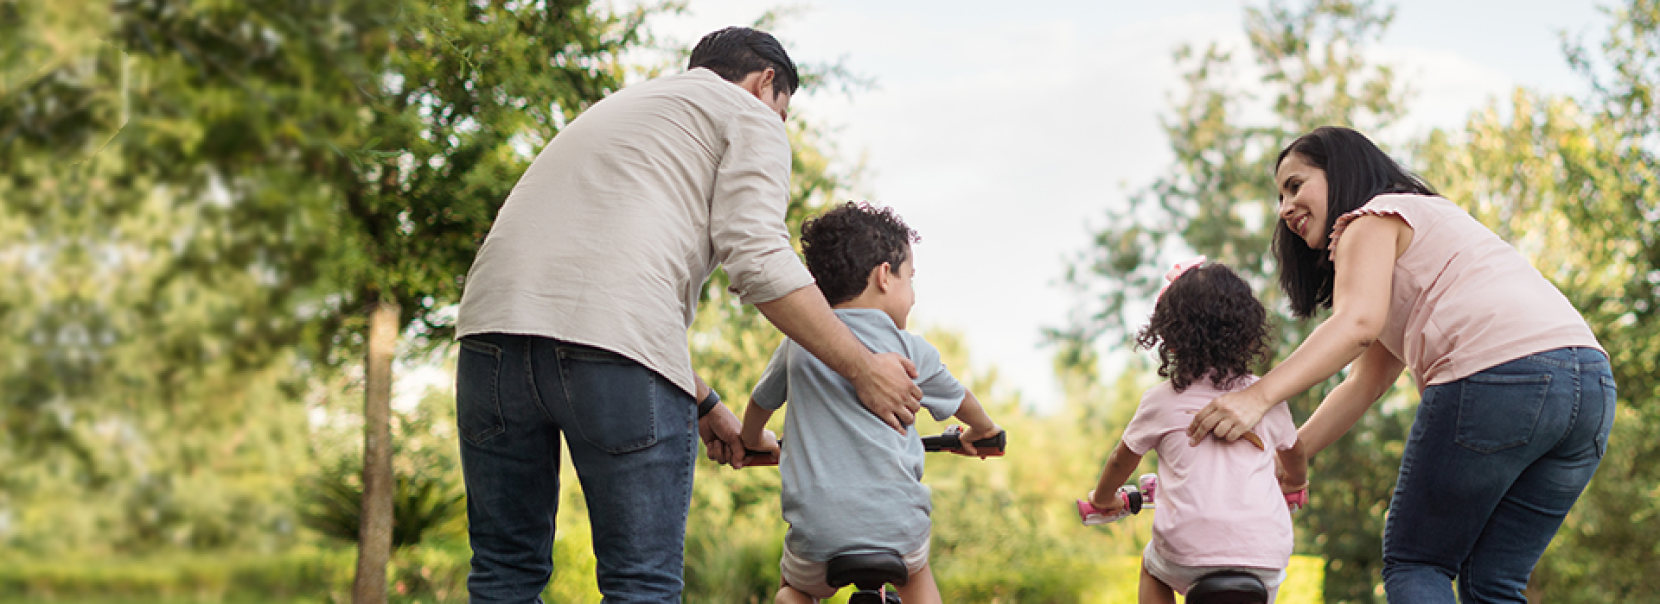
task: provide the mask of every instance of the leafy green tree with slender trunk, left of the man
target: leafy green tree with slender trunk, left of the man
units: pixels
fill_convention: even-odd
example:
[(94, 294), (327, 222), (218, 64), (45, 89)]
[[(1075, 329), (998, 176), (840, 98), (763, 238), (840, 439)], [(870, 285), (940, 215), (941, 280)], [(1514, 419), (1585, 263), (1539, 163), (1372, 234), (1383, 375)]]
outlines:
[[(71, 378), (100, 375), (116, 362), (113, 350), (133, 352), (134, 372), (123, 377), (138, 377), (144, 362), (156, 370), (138, 378), (143, 397), (193, 385), (219, 360), (227, 368), (216, 383), (241, 392), (246, 372), (317, 372), (365, 358), (369, 521), (355, 592), (383, 599), (392, 345), (407, 329), (447, 335), (442, 309), (453, 304), (495, 209), (536, 148), (619, 86), (618, 55), (637, 41), (646, 12), (613, 15), (588, 2), (0, 3), (0, 27), (28, 41), (0, 55), (17, 76), (8, 81), (25, 83), (7, 88), (15, 103), (0, 110), (10, 118), (0, 158), (50, 171), (40, 154), (103, 149), (88, 166), (113, 174), (86, 181), (86, 197), (100, 204), (60, 207), (50, 199), (65, 189), (50, 186), (81, 181), (8, 169), (7, 186), (27, 194), (7, 197), (7, 229), (28, 222), (12, 216), (66, 214), (68, 231), (38, 234), (38, 249), (66, 251), (46, 256), (56, 262), (50, 269), (81, 270), (58, 277), (71, 280), (73, 304), (8, 297), (42, 309), (37, 337), (66, 339), (63, 353), (35, 360), (61, 368), (45, 375), (68, 377), (46, 383), (42, 367), (12, 372), (35, 388), (8, 390), (27, 398), (18, 408), (28, 413), (8, 413), (5, 423), (40, 441), (30, 431), (61, 416), (48, 413), (53, 405), (96, 392)], [(63, 50), (70, 60), (56, 60)], [(113, 131), (116, 144), (100, 146)], [(115, 183), (118, 194), (100, 183)], [(194, 222), (143, 224), (131, 246), (121, 234), (108, 246), (90, 236), (93, 216), (146, 209)], [(110, 265), (96, 254), (106, 247), (118, 259)], [(144, 272), (154, 275), (139, 285), (146, 290), (129, 300), (88, 295), (101, 294), (88, 277), (126, 277), (128, 259), (158, 265)], [(226, 279), (254, 290), (219, 297)], [(174, 332), (141, 340), (153, 327)], [(143, 358), (141, 345), (164, 353)], [(163, 398), (209, 397), (179, 388)], [(217, 410), (227, 418), (244, 408)], [(144, 428), (153, 436), (148, 430), (168, 425)]]

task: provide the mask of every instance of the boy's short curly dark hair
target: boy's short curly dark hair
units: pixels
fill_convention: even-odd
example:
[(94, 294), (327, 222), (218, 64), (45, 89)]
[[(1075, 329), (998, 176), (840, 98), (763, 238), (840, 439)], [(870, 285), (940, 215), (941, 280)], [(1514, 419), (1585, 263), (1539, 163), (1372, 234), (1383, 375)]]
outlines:
[(893, 270), (921, 241), (891, 207), (845, 202), (802, 224), (807, 270), (818, 280), (825, 300), (837, 305), (865, 292), (870, 270), (888, 262)]

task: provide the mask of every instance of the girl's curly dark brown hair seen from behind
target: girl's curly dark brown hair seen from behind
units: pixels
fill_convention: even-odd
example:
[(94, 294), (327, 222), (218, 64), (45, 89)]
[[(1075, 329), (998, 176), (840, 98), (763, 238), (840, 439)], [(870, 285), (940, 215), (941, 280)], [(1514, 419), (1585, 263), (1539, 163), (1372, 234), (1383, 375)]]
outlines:
[(1210, 375), (1232, 388), (1250, 363), (1268, 355), (1268, 312), (1250, 285), (1223, 264), (1195, 267), (1159, 295), (1137, 348), (1159, 350), (1159, 377), (1175, 392)]

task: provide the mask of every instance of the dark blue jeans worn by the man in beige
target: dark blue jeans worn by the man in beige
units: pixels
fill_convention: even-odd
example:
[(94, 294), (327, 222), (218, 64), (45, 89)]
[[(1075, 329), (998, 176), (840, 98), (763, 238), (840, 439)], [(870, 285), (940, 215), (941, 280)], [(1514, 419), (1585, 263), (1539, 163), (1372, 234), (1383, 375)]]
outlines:
[(691, 395), (608, 350), (483, 334), (461, 339), (455, 413), (473, 602), (540, 602), (553, 574), (561, 433), (604, 601), (681, 601), (697, 455)]

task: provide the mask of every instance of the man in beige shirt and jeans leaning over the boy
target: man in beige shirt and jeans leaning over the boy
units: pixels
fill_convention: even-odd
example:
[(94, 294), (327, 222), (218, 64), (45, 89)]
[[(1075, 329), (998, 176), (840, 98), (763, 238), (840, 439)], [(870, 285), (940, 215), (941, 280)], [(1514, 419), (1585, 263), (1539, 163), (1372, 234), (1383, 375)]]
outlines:
[(744, 451), (686, 342), (715, 265), (876, 416), (900, 433), (911, 423), (915, 365), (865, 348), (790, 247), (784, 118), (797, 83), (772, 35), (714, 32), (686, 73), (571, 121), (501, 206), (456, 320), (473, 602), (546, 587), (561, 435), (606, 601), (679, 602), (696, 438), (720, 463)]

